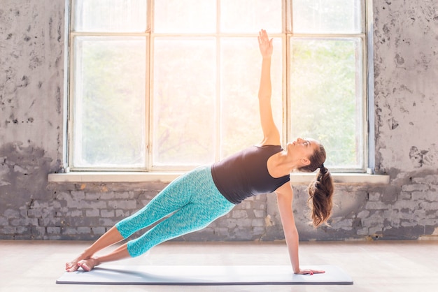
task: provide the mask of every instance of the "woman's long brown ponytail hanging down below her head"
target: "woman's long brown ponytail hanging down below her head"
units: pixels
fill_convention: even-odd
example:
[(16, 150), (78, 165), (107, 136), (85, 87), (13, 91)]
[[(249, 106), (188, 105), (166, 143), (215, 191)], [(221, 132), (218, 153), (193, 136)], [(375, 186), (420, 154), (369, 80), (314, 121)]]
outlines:
[(309, 184), (309, 199), (307, 200), (311, 208), (311, 219), (313, 226), (327, 224), (327, 220), (332, 214), (333, 199), (333, 179), (330, 172), (321, 164), (316, 180)]

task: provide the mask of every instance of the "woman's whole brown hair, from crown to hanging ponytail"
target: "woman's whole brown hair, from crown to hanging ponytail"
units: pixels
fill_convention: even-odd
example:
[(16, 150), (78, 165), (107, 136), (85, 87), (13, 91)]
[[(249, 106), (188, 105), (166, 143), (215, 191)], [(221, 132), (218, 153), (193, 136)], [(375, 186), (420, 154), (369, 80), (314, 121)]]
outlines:
[(323, 145), (319, 145), (318, 149), (309, 157), (310, 164), (299, 168), (299, 171), (313, 173), (317, 168), (320, 168), (316, 179), (309, 184), (307, 189), (309, 193), (308, 202), (311, 208), (311, 219), (313, 226), (318, 227), (325, 223), (332, 214), (333, 200), (333, 179), (330, 172), (325, 168), (325, 149)]

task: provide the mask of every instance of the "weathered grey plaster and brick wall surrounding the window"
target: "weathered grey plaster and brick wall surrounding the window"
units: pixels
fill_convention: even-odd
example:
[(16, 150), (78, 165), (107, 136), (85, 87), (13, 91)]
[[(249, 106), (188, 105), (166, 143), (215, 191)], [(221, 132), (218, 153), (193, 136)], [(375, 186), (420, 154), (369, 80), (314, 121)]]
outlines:
[[(0, 6), (0, 238), (96, 238), (165, 184), (54, 184), (62, 161), (64, 0)], [(332, 226), (313, 230), (295, 187), (301, 240), (438, 235), (438, 3), (375, 0), (376, 172), (390, 184), (338, 184)], [(283, 238), (275, 196), (247, 200), (183, 240)]]

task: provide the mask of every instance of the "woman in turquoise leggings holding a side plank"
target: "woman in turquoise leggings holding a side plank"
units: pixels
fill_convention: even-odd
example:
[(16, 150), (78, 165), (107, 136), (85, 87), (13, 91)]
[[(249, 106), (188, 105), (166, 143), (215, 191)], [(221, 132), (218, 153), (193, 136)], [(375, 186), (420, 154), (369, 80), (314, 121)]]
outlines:
[[(262, 54), (258, 94), (262, 142), (212, 166), (202, 166), (178, 177), (143, 209), (118, 222), (78, 258), (66, 263), (67, 271), (80, 267), (90, 271), (100, 263), (139, 256), (161, 242), (205, 228), (245, 198), (275, 191), (293, 271), (295, 274), (324, 272), (299, 268), (298, 232), (292, 213), (293, 191), (289, 175), (293, 170), (313, 172), (320, 168), (316, 181), (309, 185), (312, 203), (309, 205), (313, 225), (323, 224), (330, 217), (333, 194), (331, 175), (323, 166), (325, 150), (316, 140), (302, 138), (288, 143), (286, 149), (281, 148), (271, 110), (272, 39), (269, 40), (266, 31), (262, 30), (258, 41)], [(97, 251), (125, 240), (169, 214), (171, 216), (141, 237), (122, 244), (109, 254), (94, 256)]]

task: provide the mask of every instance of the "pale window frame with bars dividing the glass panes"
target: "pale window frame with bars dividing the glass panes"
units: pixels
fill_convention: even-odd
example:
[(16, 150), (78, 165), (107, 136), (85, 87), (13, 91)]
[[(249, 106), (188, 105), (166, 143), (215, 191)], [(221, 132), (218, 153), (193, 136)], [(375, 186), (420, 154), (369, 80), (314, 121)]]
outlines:
[[(370, 41), (370, 38), (372, 37), (372, 24), (370, 22), (372, 13), (372, 8), (370, 8), (369, 0), (361, 0), (361, 17), (362, 20), (360, 22), (361, 26), (361, 33), (360, 34), (294, 34), (292, 30), (292, 1), (293, 0), (282, 0), (282, 31), (281, 34), (271, 34), (271, 37), (278, 37), (281, 38), (282, 41), (282, 59), (283, 59), (283, 82), (282, 82), (282, 103), (283, 103), (283, 124), (281, 125), (282, 128), (282, 143), (285, 145), (292, 137), (290, 137), (290, 129), (291, 129), (291, 119), (289, 118), (292, 110), (290, 107), (288, 107), (288, 104), (290, 104), (290, 41), (292, 38), (360, 38), (362, 40), (362, 157), (363, 157), (363, 167), (362, 168), (348, 168), (348, 169), (342, 169), (337, 168), (334, 169), (335, 172), (346, 172), (346, 173), (373, 173), (374, 169), (374, 158), (372, 157), (372, 154), (374, 153), (374, 138), (372, 135), (372, 128), (374, 128), (373, 120), (370, 119), (372, 117), (372, 91), (370, 89), (372, 88), (372, 74), (369, 74), (369, 71), (372, 71), (372, 61), (369, 60), (369, 50), (372, 50), (372, 41)], [(217, 1), (218, 6), (220, 6), (220, 1)], [(70, 18), (69, 18), (69, 52), (67, 54), (68, 56), (68, 64), (69, 68), (68, 70), (68, 110), (67, 110), (67, 154), (66, 154), (66, 165), (70, 166), (70, 169), (73, 171), (91, 171), (91, 172), (146, 172), (146, 173), (153, 173), (153, 172), (179, 172), (179, 171), (186, 171), (189, 170), (187, 166), (164, 166), (164, 167), (157, 167), (152, 165), (152, 129), (151, 124), (153, 120), (153, 82), (151, 82), (151, 79), (153, 78), (153, 50), (154, 50), (154, 39), (155, 35), (153, 34), (153, 0), (147, 0), (147, 8), (148, 8), (148, 15), (147, 15), (147, 22), (146, 22), (146, 31), (144, 32), (137, 32), (137, 33), (101, 33), (101, 32), (78, 32), (73, 31), (73, 22), (75, 20), (75, 0), (70, 0)], [(218, 8), (219, 9), (219, 8)], [(219, 14), (219, 13), (218, 13)], [(220, 21), (219, 18), (217, 20)], [(217, 24), (219, 27), (219, 24)], [(219, 29), (219, 28), (217, 28)], [(166, 34), (159, 34), (160, 36), (166, 36)], [(172, 34), (169, 34), (171, 36)], [(221, 34), (216, 34), (218, 38), (220, 38)], [(222, 34), (226, 35), (226, 34)], [(242, 34), (245, 35), (245, 34)], [(73, 166), (73, 151), (74, 151), (74, 142), (73, 142), (73, 123), (74, 123), (74, 106), (73, 106), (73, 99), (74, 99), (74, 82), (75, 82), (75, 64), (74, 64), (74, 52), (73, 52), (73, 43), (74, 38), (76, 36), (141, 36), (146, 38), (146, 161), (145, 166), (142, 168), (100, 168), (100, 167), (90, 167), (90, 168), (80, 168)], [(203, 35), (204, 36), (204, 35)], [(218, 51), (218, 54), (220, 52)], [(219, 78), (218, 74), (217, 78)], [(219, 90), (219, 89), (217, 89)], [(220, 103), (220, 98), (216, 98), (216, 105)], [(218, 111), (218, 106), (216, 108), (216, 111)], [(217, 114), (217, 113), (216, 113)], [(218, 127), (218, 123), (216, 127)], [(219, 131), (218, 131), (219, 133)], [(219, 135), (219, 134), (218, 134)], [(255, 137), (255, 143), (257, 143), (258, 137)], [(219, 143), (220, 139), (216, 139), (216, 144)], [(219, 156), (220, 149), (219, 146), (216, 145), (215, 147), (216, 151), (216, 157)]]

